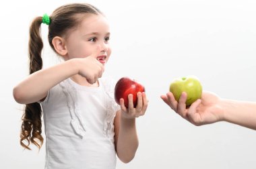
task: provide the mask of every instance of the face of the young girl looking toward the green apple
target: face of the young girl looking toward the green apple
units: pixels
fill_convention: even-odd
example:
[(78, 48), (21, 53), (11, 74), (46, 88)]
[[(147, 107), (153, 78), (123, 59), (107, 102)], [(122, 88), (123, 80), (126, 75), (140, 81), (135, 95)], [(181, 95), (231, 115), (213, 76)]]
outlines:
[(98, 46), (100, 54), (96, 58), (105, 64), (111, 54), (108, 40), (110, 30), (106, 17), (103, 15), (82, 15), (81, 24), (69, 32), (65, 39), (67, 48), (67, 59), (84, 58), (96, 52)]

